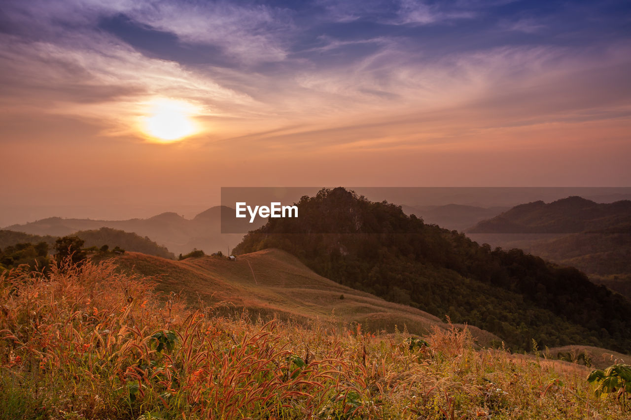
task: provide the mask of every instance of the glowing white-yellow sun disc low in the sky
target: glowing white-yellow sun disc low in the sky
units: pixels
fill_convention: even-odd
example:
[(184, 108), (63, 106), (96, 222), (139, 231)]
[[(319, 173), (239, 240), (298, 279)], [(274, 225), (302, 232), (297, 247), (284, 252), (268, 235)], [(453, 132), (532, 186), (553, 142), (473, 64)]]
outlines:
[(192, 103), (167, 98), (154, 99), (146, 105), (142, 130), (163, 143), (182, 140), (199, 132), (198, 124), (192, 118), (195, 114), (198, 112)]

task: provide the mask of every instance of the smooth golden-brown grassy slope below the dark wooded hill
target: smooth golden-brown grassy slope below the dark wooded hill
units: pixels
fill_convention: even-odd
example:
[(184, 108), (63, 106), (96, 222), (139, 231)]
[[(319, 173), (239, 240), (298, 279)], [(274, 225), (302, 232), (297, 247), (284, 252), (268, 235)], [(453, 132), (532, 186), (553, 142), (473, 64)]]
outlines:
[[(116, 263), (144, 276), (158, 276), (156, 288), (182, 292), (193, 303), (229, 303), (227, 312), (247, 309), (253, 317), (321, 320), (338, 325), (359, 323), (377, 332), (394, 331), (395, 325), (413, 334), (427, 334), (433, 325), (446, 327), (439, 318), (409, 306), (387, 302), (369, 293), (342, 286), (318, 276), (293, 255), (267, 249), (240, 255), (235, 261), (203, 257), (173, 261), (126, 252)], [(344, 296), (341, 299), (341, 296)], [(480, 344), (497, 337), (475, 327)]]

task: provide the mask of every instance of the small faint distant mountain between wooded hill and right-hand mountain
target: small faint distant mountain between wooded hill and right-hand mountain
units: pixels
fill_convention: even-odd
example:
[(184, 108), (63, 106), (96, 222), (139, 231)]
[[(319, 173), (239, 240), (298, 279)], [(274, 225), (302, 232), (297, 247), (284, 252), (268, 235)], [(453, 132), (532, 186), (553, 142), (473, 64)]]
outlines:
[(425, 223), (449, 230), (463, 231), (479, 221), (493, 218), (509, 207), (477, 207), (461, 204), (445, 206), (401, 206), (405, 214), (414, 214)]

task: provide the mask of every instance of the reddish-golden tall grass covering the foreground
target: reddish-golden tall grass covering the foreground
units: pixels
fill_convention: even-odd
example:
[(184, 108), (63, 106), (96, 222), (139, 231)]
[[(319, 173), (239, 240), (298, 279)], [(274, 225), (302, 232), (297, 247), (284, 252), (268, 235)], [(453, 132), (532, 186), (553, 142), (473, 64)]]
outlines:
[(581, 366), (191, 310), (112, 262), (0, 277), (3, 419), (621, 419)]

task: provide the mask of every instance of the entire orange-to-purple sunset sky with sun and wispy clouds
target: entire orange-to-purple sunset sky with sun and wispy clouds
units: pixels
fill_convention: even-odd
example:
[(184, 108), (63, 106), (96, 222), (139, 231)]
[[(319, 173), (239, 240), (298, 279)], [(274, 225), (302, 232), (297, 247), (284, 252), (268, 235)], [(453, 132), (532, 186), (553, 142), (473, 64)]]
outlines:
[(3, 0), (0, 216), (631, 186), (629, 74), (628, 1)]

